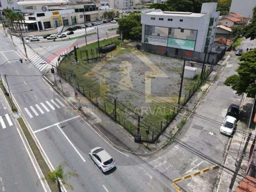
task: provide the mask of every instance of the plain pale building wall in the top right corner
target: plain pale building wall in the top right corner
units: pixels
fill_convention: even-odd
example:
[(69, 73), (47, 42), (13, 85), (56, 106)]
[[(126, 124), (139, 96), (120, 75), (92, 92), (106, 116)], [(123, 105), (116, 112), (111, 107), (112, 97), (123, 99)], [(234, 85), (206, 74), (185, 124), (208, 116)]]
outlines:
[(256, 0), (232, 0), (230, 12), (238, 13), (246, 18), (252, 18)]

